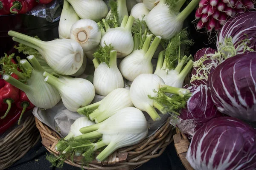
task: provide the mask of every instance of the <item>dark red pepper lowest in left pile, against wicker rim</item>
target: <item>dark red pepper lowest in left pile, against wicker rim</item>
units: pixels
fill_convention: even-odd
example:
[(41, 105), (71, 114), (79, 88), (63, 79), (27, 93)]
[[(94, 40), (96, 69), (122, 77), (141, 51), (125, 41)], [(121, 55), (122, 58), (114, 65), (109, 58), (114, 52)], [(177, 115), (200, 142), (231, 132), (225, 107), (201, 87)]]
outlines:
[[(11, 108), (10, 113), (6, 116), (6, 119), (0, 119), (0, 133), (5, 132), (7, 129), (12, 127), (12, 125), (17, 122), (20, 117), (22, 110), (17, 108), (15, 105)], [(0, 112), (0, 116), (2, 116), (4, 112)]]

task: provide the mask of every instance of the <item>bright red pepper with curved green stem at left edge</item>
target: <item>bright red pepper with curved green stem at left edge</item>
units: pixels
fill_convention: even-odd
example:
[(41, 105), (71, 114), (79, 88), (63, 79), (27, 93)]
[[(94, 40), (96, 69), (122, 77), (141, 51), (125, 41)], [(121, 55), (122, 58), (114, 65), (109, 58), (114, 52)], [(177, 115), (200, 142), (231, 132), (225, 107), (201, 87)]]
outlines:
[[(12, 74), (12, 77), (18, 79), (17, 75)], [(6, 113), (1, 117), (4, 119), (9, 113), (12, 103), (16, 102), (19, 99), (19, 89), (15, 88), (8, 82), (5, 82), (3, 88), (0, 89), (0, 103), (1, 103), (1, 111), (6, 111)]]

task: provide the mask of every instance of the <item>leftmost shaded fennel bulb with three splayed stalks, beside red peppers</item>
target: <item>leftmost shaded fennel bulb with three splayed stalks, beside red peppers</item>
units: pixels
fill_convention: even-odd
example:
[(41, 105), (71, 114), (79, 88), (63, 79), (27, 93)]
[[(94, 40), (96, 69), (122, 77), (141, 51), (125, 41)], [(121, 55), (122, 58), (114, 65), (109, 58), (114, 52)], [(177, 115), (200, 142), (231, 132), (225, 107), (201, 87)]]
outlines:
[(27, 58), (32, 66), (26, 59), (20, 60), (20, 65), (24, 70), (32, 70), (31, 77), (26, 80), (26, 84), (9, 75), (4, 75), (3, 79), (16, 88), (24, 91), (29, 101), (36, 107), (42, 109), (52, 108), (61, 100), (61, 96), (58, 94), (57, 89), (44, 82), (44, 69), (37, 59), (33, 55), (30, 55)]

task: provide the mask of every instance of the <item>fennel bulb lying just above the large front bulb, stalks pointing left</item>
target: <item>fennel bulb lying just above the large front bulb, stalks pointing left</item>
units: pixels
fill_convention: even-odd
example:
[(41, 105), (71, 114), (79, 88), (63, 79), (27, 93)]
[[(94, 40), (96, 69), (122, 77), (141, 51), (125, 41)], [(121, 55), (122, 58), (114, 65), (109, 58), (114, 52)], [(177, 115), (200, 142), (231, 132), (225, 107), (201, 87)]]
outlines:
[(117, 88), (97, 103), (79, 108), (77, 112), (89, 116), (96, 123), (102, 122), (123, 108), (132, 107), (130, 92), (125, 88)]

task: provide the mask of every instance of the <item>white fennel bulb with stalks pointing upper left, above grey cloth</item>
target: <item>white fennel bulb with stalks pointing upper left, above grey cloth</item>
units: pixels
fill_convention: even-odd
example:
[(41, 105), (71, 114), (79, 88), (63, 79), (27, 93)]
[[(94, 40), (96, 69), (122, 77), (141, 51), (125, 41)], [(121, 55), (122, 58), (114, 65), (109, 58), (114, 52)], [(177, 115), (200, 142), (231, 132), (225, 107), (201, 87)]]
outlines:
[(44, 77), (46, 77), (45, 82), (58, 90), (64, 106), (69, 111), (75, 112), (93, 101), (95, 89), (87, 79), (60, 76), (61, 79), (64, 79), (64, 81), (60, 81), (47, 72), (44, 72)]

